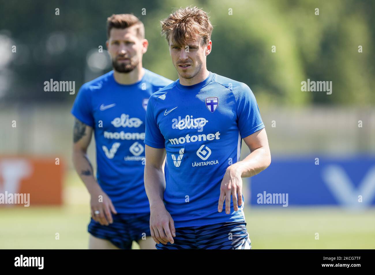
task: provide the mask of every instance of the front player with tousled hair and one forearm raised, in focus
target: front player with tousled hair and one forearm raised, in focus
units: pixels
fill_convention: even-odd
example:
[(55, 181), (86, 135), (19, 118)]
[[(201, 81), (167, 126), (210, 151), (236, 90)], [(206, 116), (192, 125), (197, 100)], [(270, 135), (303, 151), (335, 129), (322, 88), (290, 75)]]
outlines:
[[(251, 249), (242, 177), (266, 169), (270, 150), (251, 89), (206, 68), (212, 29), (196, 7), (162, 21), (179, 79), (151, 95), (146, 114), (144, 183), (158, 249)], [(251, 153), (240, 161), (242, 139)]]

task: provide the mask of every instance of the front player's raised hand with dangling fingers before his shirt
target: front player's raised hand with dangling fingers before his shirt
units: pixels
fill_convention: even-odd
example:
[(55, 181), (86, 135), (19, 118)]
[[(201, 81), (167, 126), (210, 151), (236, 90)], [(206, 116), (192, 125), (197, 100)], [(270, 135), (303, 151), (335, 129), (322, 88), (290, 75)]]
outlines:
[(217, 207), (217, 211), (221, 212), (223, 210), (223, 202), (225, 199), (225, 213), (231, 213), (231, 195), (233, 199), (234, 211), (237, 211), (238, 205), (242, 205), (242, 178), (240, 172), (237, 169), (231, 168), (231, 166), (229, 166), (226, 169), (223, 180), (221, 181), (219, 205)]

